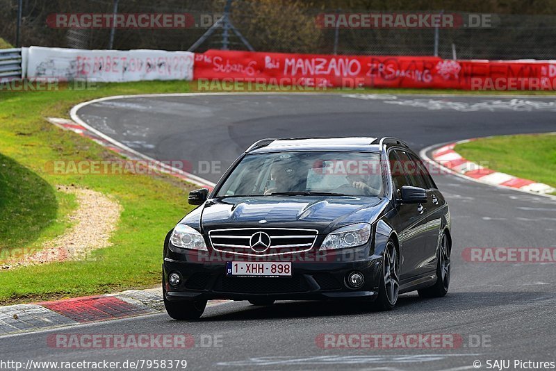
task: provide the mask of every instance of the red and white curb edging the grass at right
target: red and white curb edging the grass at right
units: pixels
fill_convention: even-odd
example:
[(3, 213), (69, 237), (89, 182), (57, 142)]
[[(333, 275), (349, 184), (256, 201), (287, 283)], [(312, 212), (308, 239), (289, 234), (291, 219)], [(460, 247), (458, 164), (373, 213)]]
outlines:
[(466, 160), (466, 158), (462, 157), (454, 150), (456, 145), (470, 142), (472, 140), (475, 139), (460, 140), (459, 142), (450, 143), (449, 145), (444, 145), (439, 149), (435, 149), (432, 151), (432, 159), (443, 167), (452, 170), (452, 172), (466, 176), (475, 181), (491, 184), (493, 186), (517, 188), (519, 190), (542, 194), (556, 192), (556, 189), (548, 186), (548, 184), (537, 183), (529, 179), (518, 178), (502, 172), (496, 172), (488, 167), (473, 163)]

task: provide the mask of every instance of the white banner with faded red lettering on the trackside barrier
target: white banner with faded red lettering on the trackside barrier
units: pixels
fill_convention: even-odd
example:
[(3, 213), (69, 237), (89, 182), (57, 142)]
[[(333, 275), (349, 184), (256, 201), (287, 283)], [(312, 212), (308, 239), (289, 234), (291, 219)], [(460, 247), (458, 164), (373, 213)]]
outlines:
[(98, 82), (193, 80), (193, 53), (30, 47), (26, 76)]

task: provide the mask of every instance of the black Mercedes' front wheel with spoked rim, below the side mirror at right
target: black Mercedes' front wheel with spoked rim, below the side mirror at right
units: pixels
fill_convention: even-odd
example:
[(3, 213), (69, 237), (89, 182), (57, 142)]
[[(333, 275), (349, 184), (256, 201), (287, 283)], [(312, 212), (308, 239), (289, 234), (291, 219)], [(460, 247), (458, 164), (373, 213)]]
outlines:
[(382, 279), (380, 280), (378, 297), (373, 303), (375, 311), (391, 311), (400, 292), (400, 258), (394, 242), (389, 240), (382, 256)]

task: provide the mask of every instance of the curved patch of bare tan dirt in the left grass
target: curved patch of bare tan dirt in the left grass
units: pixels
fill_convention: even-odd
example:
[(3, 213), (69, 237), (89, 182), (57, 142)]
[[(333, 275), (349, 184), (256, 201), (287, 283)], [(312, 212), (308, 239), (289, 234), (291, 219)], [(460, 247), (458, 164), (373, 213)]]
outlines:
[(58, 186), (58, 190), (74, 194), (79, 205), (69, 215), (70, 229), (44, 243), (38, 252), (6, 262), (3, 269), (84, 260), (93, 250), (111, 245), (109, 240), (120, 220), (122, 206), (115, 199), (94, 190), (67, 186)]

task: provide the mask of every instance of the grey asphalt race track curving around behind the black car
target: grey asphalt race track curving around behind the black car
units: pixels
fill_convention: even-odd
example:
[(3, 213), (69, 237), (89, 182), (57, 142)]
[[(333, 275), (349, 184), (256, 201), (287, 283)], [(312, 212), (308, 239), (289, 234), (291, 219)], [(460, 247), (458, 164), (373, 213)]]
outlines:
[[(115, 140), (158, 160), (199, 161), (222, 170), (261, 138), (391, 135), (414, 149), (509, 133), (556, 131), (553, 97), (426, 97), (341, 94), (230, 94), (135, 97), (84, 106), (79, 116)], [(369, 99), (370, 98), (370, 99)], [(516, 148), (519, 151), (519, 148)], [(201, 166), (202, 167), (202, 166)], [(214, 168), (213, 168), (214, 170)], [(124, 361), (185, 358), (188, 368), (232, 370), (473, 370), (475, 360), (556, 361), (556, 270), (550, 263), (469, 263), (466, 247), (556, 247), (556, 199), (434, 176), (452, 213), (452, 281), (441, 299), (402, 295), (389, 313), (344, 303), (230, 302), (199, 322), (147, 315), (0, 338), (12, 359)], [(186, 200), (183, 200), (185, 203)], [(171, 226), (168, 226), (170, 228)], [(161, 236), (161, 239), (163, 236)], [(130, 257), (133, 258), (133, 257)], [(54, 349), (51, 333), (190, 333), (222, 347)], [(322, 333), (455, 333), (457, 349), (321, 349)], [(477, 338), (482, 344), (473, 345)], [(3, 358), (6, 358), (5, 356)], [(510, 368), (510, 369), (512, 369)]]

